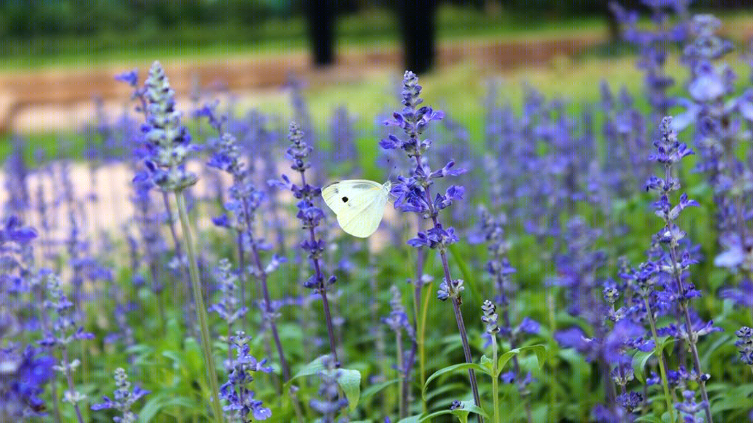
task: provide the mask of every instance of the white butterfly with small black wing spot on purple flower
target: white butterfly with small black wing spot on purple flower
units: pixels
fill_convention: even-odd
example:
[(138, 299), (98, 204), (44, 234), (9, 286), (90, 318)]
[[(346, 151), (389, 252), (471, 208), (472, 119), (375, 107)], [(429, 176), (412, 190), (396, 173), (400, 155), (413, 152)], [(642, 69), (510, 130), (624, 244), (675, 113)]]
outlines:
[(353, 236), (366, 238), (376, 232), (384, 216), (392, 183), (365, 179), (335, 182), (322, 190), (322, 198), (335, 212), (337, 223)]

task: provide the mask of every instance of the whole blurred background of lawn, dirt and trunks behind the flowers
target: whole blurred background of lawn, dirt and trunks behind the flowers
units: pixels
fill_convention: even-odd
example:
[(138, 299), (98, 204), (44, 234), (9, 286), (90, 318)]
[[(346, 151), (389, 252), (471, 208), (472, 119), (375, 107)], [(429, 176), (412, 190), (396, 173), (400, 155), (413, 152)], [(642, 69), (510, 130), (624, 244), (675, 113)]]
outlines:
[[(317, 110), (342, 103), (371, 125), (369, 114), (393, 101), (390, 87), (406, 68), (429, 77), (428, 98), (461, 117), (479, 111), (485, 82), (496, 78), (509, 82), (513, 103), (524, 82), (588, 101), (599, 79), (640, 82), (635, 47), (620, 42), (608, 3), (2, 0), (0, 133), (75, 132), (98, 102), (122, 110), (130, 91), (114, 75), (143, 76), (154, 60), (186, 99), (232, 93), (274, 111), (287, 107), (284, 87), (295, 77), (315, 121)], [(646, 11), (638, 0), (621, 4)], [(722, 18), (723, 34), (738, 45), (753, 36), (750, 0), (698, 0), (692, 11)], [(0, 143), (2, 157), (8, 144)]]

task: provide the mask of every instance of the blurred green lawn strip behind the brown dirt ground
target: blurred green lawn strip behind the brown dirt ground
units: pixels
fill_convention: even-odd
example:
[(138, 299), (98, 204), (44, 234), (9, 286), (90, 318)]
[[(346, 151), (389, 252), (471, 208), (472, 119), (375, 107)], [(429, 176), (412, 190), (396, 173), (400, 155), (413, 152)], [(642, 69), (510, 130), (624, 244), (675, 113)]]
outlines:
[[(735, 38), (753, 18), (753, 10), (721, 16)], [(535, 40), (537, 38), (605, 35), (602, 17), (555, 19), (547, 16), (489, 14), (470, 7), (444, 5), (437, 16), (439, 42), (470, 40)], [(399, 45), (397, 16), (386, 9), (368, 9), (338, 19), (337, 47)], [(249, 28), (240, 24), (157, 27), (132, 32), (100, 32), (96, 36), (8, 38), (0, 43), (0, 71), (28, 68), (105, 66), (163, 60), (304, 53), (308, 46), (302, 17), (272, 18)]]

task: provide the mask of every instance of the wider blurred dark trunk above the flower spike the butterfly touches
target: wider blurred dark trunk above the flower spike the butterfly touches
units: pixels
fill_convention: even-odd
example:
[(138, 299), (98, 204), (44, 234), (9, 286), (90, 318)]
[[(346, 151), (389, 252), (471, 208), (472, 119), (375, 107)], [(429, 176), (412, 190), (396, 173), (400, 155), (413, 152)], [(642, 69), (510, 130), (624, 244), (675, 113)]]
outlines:
[(415, 73), (431, 69), (436, 55), (438, 0), (398, 0), (405, 68)]

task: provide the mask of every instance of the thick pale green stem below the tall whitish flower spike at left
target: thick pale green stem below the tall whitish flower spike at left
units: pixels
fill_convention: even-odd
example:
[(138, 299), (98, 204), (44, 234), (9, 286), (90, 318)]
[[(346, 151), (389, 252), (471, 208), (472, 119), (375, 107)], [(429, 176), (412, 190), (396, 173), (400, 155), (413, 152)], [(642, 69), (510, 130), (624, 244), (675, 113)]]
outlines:
[(194, 301), (196, 302), (196, 317), (199, 319), (199, 328), (201, 330), (201, 349), (204, 353), (204, 362), (209, 371), (209, 386), (212, 388), (212, 411), (214, 420), (222, 422), (222, 409), (220, 407), (220, 389), (217, 385), (217, 370), (214, 366), (214, 356), (209, 344), (209, 324), (207, 323), (207, 310), (204, 307), (204, 299), (201, 293), (201, 282), (199, 281), (199, 266), (196, 263), (196, 250), (193, 245), (191, 235), (191, 226), (188, 223), (188, 212), (186, 210), (186, 198), (183, 191), (175, 191), (175, 201), (178, 203), (178, 214), (180, 216), (180, 225), (183, 230), (183, 238), (186, 243), (186, 252), (188, 254), (188, 273), (191, 276), (191, 288), (193, 289)]

